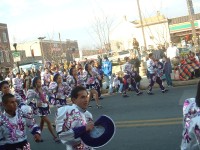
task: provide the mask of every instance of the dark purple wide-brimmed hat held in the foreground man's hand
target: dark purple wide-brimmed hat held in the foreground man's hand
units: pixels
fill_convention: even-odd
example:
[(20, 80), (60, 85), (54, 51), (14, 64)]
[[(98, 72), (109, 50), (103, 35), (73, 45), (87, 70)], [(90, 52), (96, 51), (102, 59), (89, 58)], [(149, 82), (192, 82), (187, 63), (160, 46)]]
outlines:
[(94, 129), (81, 136), (82, 141), (93, 148), (106, 145), (115, 134), (115, 124), (113, 120), (102, 115), (94, 123)]

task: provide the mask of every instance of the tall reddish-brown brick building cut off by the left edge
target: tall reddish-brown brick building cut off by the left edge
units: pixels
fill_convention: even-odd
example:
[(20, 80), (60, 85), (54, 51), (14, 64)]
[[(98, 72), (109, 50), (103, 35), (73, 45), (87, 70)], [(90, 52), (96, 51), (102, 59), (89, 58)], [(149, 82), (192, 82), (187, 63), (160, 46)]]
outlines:
[(5, 74), (13, 67), (7, 24), (0, 23), (0, 69)]

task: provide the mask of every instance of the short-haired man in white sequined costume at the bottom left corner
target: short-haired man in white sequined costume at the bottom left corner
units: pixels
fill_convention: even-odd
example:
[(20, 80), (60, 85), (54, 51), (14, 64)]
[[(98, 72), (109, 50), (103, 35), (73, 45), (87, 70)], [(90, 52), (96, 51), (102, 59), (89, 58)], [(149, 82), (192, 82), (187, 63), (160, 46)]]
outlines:
[(0, 116), (0, 149), (30, 150), (25, 125), (34, 135), (36, 142), (41, 141), (40, 128), (35, 124), (30, 107), (17, 108), (14, 95), (8, 93), (2, 97), (5, 111)]

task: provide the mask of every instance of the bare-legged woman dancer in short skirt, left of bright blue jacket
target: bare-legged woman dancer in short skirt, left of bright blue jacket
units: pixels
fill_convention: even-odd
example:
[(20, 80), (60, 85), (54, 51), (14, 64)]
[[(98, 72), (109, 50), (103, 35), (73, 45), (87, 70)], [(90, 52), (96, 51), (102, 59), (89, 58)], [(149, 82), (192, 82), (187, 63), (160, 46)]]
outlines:
[(85, 72), (83, 76), (84, 76), (86, 88), (90, 92), (89, 100), (94, 95), (97, 108), (102, 108), (102, 106), (99, 104), (99, 97), (101, 96), (101, 91), (100, 91), (98, 78), (99, 79), (101, 78), (100, 75), (97, 72), (92, 71), (92, 67), (88, 63), (85, 65)]

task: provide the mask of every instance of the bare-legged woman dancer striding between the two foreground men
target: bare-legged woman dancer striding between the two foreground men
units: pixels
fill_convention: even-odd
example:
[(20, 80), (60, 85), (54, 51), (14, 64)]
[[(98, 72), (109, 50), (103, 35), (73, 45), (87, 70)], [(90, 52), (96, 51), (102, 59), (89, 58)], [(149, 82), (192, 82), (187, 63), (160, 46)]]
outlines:
[(53, 136), (55, 142), (59, 142), (59, 139), (54, 134), (51, 121), (48, 118), (50, 114), (49, 102), (48, 102), (48, 89), (46, 86), (42, 86), (41, 79), (35, 77), (32, 81), (33, 89), (28, 90), (27, 99), (28, 104), (34, 110), (34, 114), (40, 116), (40, 129), (43, 130), (44, 123), (47, 123), (47, 127)]

